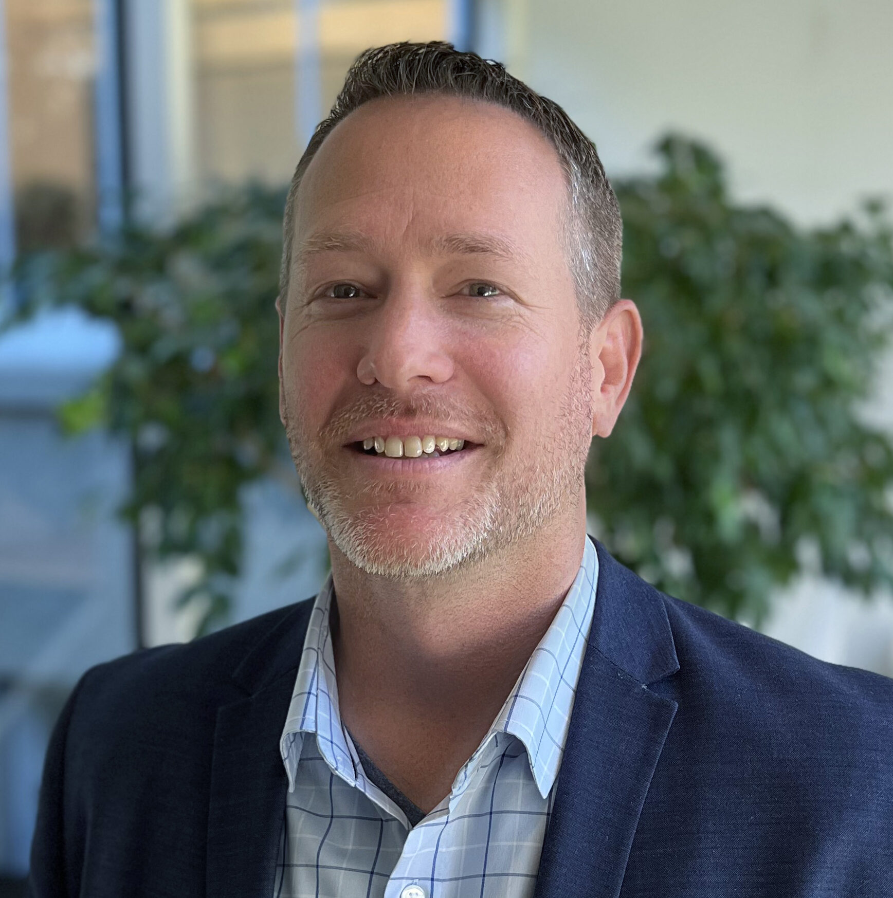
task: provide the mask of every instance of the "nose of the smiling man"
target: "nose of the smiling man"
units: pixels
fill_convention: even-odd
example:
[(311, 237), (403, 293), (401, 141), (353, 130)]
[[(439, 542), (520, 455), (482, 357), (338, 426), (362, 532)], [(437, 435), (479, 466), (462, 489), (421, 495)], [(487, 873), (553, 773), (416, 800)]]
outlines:
[(361, 383), (391, 390), (445, 383), (453, 376), (446, 322), (421, 290), (394, 290), (370, 322), (357, 365)]

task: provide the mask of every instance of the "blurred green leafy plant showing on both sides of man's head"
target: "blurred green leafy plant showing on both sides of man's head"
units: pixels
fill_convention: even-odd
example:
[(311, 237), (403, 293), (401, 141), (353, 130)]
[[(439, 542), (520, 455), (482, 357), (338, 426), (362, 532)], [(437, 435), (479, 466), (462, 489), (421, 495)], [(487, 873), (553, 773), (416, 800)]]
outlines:
[[(730, 200), (703, 146), (670, 137), (659, 158), (657, 175), (615, 185), (624, 294), (647, 337), (588, 467), (599, 535), (668, 592), (751, 621), (804, 547), (866, 594), (893, 584), (893, 445), (859, 414), (891, 331), (880, 208), (803, 230)], [(243, 486), (273, 474), (299, 489), (276, 377), (284, 196), (244, 189), (170, 231), (130, 223), (19, 271), (20, 318), (73, 304), (117, 325), (118, 360), (61, 417), (131, 439), (125, 513), (152, 523), (157, 556), (200, 560), (182, 601), (205, 603), (205, 629), (239, 574)]]

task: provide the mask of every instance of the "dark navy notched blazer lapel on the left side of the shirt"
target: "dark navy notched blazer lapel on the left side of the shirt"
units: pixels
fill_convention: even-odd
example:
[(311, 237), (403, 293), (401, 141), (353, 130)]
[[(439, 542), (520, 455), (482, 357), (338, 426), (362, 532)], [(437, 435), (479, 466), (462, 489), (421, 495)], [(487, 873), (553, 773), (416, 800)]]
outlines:
[(245, 657), (234, 680), (248, 694), (217, 711), (208, 809), (208, 898), (269, 898), (283, 832), (285, 725), (313, 602), (296, 606)]

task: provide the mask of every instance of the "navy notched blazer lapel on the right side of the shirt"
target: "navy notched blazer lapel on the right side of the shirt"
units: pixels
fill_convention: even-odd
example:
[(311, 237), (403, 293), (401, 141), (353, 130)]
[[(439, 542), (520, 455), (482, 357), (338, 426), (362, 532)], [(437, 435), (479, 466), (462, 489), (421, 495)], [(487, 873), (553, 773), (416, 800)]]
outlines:
[(679, 669), (660, 594), (597, 543), (598, 586), (535, 898), (615, 898), (676, 702), (648, 684)]

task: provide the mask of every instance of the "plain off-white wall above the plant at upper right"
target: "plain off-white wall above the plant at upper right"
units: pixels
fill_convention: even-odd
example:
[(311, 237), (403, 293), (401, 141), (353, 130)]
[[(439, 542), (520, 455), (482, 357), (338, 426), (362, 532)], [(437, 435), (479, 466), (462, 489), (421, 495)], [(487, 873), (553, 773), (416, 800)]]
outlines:
[(507, 0), (508, 50), (597, 142), (641, 169), (668, 128), (703, 136), (738, 196), (801, 220), (893, 198), (889, 0)]

